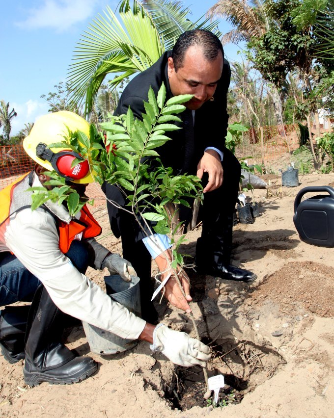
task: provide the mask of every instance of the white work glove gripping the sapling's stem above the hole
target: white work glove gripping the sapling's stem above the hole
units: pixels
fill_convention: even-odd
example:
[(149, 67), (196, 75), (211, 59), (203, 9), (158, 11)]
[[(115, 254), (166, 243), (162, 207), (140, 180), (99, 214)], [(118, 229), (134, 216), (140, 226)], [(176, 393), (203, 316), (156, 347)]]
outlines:
[(179, 366), (205, 367), (210, 360), (210, 348), (202, 342), (190, 338), (188, 334), (174, 331), (164, 324), (159, 324), (153, 331), (151, 350), (160, 351), (171, 362)]

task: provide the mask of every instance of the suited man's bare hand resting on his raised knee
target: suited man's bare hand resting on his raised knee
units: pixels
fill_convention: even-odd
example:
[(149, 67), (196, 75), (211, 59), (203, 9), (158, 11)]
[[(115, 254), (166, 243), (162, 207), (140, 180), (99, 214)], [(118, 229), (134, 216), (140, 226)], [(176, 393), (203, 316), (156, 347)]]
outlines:
[(215, 150), (206, 150), (197, 164), (196, 176), (201, 179), (203, 173), (208, 173), (209, 181), (203, 193), (217, 189), (223, 184), (223, 167), (219, 154)]

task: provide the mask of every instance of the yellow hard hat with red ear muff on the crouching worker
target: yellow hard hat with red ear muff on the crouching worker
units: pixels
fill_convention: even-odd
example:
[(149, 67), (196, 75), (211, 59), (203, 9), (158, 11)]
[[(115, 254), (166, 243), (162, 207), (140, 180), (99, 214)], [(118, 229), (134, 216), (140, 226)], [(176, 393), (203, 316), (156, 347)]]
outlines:
[[(94, 172), (87, 159), (66, 148), (48, 148), (50, 144), (64, 142), (69, 131), (82, 131), (89, 138), (89, 123), (76, 113), (67, 110), (48, 113), (34, 123), (23, 141), (23, 148), (30, 158), (49, 171), (56, 171), (73, 183), (93, 183)], [(75, 158), (83, 161), (71, 167)]]

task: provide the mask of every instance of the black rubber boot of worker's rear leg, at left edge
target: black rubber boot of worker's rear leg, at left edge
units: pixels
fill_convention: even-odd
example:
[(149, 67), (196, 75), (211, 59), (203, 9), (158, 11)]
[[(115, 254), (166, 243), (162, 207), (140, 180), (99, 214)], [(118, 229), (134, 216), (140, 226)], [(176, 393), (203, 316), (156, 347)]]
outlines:
[(25, 334), (30, 305), (6, 306), (0, 311), (0, 348), (9, 363), (25, 358)]

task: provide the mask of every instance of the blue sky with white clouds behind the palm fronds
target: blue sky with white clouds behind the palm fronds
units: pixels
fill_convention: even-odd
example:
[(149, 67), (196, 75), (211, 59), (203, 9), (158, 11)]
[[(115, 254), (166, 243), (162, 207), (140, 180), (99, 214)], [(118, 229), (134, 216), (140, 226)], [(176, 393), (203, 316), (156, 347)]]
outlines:
[[(184, 0), (196, 20), (214, 0)], [(106, 0), (0, 0), (0, 100), (9, 102), (18, 116), (12, 119), (12, 135), (28, 122), (48, 112), (42, 94), (55, 91), (66, 81), (68, 66), (81, 34), (106, 5), (117, 10), (118, 1)], [(221, 22), (220, 29), (230, 29)], [(238, 60), (238, 47), (226, 45), (226, 56)]]

